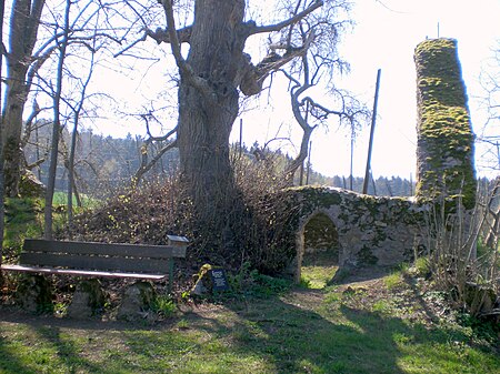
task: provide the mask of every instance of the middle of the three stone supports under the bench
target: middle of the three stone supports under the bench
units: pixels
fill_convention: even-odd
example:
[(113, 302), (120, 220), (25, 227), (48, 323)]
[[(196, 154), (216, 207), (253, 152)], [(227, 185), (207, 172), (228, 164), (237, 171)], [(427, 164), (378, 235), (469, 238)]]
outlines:
[(81, 281), (68, 307), (68, 316), (80, 320), (90, 319), (102, 312), (104, 303), (106, 293), (102, 291), (99, 280)]

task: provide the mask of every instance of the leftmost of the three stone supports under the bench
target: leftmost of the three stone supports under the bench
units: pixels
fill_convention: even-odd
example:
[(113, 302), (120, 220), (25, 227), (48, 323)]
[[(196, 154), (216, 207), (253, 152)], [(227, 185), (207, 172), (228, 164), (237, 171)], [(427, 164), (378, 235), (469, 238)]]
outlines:
[(43, 275), (22, 275), (19, 280), (16, 300), (28, 312), (53, 312), (52, 285)]

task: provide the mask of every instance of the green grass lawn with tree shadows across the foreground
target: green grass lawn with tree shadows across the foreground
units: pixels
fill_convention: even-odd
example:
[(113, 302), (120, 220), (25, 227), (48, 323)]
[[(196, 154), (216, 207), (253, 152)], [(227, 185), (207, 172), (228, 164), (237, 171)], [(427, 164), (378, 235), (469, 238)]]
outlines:
[(182, 304), (156, 324), (3, 306), (0, 372), (500, 373), (498, 341), (440, 315), (438, 295), (398, 276)]

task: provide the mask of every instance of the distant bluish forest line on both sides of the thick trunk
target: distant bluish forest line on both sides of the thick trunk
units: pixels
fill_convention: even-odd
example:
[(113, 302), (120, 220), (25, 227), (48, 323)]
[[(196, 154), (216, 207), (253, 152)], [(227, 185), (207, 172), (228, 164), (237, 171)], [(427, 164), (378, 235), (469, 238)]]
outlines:
[[(39, 121), (34, 127), (36, 131), (31, 131), (27, 146), (24, 148), (26, 163), (34, 173), (34, 175), (46, 183), (49, 172), (49, 163), (44, 155), (48, 154), (51, 134), (48, 121)], [(67, 172), (67, 142), (70, 134), (64, 129), (61, 137), (60, 162), (56, 178), (56, 189), (58, 191), (67, 191), (68, 172)], [(168, 143), (168, 141), (166, 141)], [(140, 135), (128, 134), (126, 138), (112, 138), (97, 134), (92, 130), (82, 130), (79, 132), (77, 156), (76, 156), (76, 175), (77, 189), (80, 193), (103, 198), (112, 193), (117, 189), (123, 189), (132, 184), (132, 179), (141, 166), (141, 160), (146, 156), (153, 159), (158, 150), (163, 146), (162, 143), (152, 143), (146, 146), (147, 141)], [(251, 146), (243, 144), (233, 144), (232, 162), (238, 162), (238, 158), (247, 158), (254, 163), (272, 166), (273, 172), (280, 175), (287, 165), (294, 159), (281, 150), (270, 150), (262, 148), (258, 142)], [(164, 178), (172, 178), (177, 174), (179, 166), (179, 154), (176, 148), (163, 153), (157, 162), (151, 166), (142, 179), (144, 181), (156, 181)], [(327, 176), (312, 168), (309, 170), (304, 164), (303, 174), (306, 175), (302, 184), (330, 185), (350, 190), (351, 180), (349, 176)], [(488, 184), (487, 180), (481, 180), (481, 184)], [(300, 173), (296, 173), (293, 179), (294, 185), (300, 185)], [(352, 178), (352, 191), (361, 192), (363, 186), (363, 178)], [(368, 193), (378, 196), (411, 196), (414, 193), (414, 182), (402, 179), (400, 176), (378, 176), (370, 180)]]

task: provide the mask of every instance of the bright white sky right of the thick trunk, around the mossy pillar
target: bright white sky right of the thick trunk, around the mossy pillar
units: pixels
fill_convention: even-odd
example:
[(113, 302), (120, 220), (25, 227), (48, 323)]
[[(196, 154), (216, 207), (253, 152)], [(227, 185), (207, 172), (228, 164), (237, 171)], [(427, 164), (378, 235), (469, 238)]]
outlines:
[[(351, 13), (353, 31), (344, 36), (341, 53), (351, 64), (351, 72), (340, 82), (354, 92), (371, 109), (377, 70), (381, 69), (378, 117), (371, 170), (374, 178), (399, 175), (414, 180), (416, 171), (416, 68), (413, 51), (427, 38), (458, 40), (458, 53), (467, 85), (469, 108), (476, 133), (484, 125), (478, 97), (481, 67), (492, 55), (500, 40), (500, 1), (480, 0), (358, 0)], [(287, 99), (288, 100), (288, 99)], [(286, 103), (288, 101), (284, 101)], [(263, 127), (247, 130), (244, 123), (256, 114), (243, 114), (243, 141), (263, 144), (276, 135), (278, 118), (289, 115), (286, 104), (272, 109), (271, 120)], [(292, 121), (292, 120), (291, 120)], [(252, 121), (253, 122), (253, 121)], [(317, 129), (312, 135), (312, 169), (324, 175), (350, 174), (350, 132), (331, 127), (328, 132)], [(353, 175), (363, 176), (369, 139), (369, 123), (358, 134), (353, 151)], [(232, 140), (237, 141), (236, 125)], [(299, 144), (298, 141), (296, 141)], [(293, 152), (292, 150), (290, 152)], [(491, 174), (481, 168), (483, 150), (476, 152), (479, 175)]]

